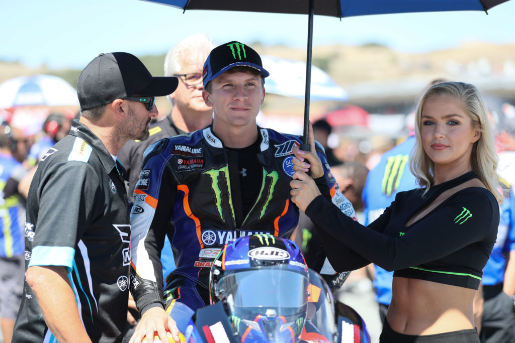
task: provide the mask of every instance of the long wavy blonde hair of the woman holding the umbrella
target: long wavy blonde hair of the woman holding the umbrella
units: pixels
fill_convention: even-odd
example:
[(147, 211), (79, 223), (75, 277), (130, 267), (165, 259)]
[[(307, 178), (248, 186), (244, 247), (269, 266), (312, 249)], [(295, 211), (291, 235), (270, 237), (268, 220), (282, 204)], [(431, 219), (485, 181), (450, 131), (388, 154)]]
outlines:
[(415, 116), (415, 136), (417, 142), (409, 157), (409, 169), (417, 178), (417, 183), (429, 190), (434, 183), (435, 164), (429, 158), (422, 146), (421, 125), (422, 107), (427, 99), (433, 96), (447, 96), (461, 101), (462, 108), (472, 120), (475, 130), (481, 132), (481, 137), (474, 142), (471, 154), (472, 170), (479, 180), (492, 192), (498, 202), (502, 202), (503, 196), (497, 191), (499, 175), (497, 169), (497, 154), (495, 153), (495, 139), (488, 121), (485, 102), (479, 90), (471, 84), (464, 82), (437, 83), (422, 95), (417, 105)]

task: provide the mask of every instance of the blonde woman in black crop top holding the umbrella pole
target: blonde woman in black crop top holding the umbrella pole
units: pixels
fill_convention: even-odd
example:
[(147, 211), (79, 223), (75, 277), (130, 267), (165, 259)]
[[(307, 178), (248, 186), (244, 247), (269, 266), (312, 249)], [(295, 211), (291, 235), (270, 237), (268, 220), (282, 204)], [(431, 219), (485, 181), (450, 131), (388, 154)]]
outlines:
[(495, 243), (502, 195), (478, 89), (461, 82), (428, 88), (415, 131), (410, 169), (421, 188), (398, 193), (367, 227), (320, 194), (311, 177), (322, 166), (311, 152), (296, 154), (292, 201), (315, 223), (336, 270), (370, 262), (394, 270), (381, 342), (479, 342), (472, 301)]

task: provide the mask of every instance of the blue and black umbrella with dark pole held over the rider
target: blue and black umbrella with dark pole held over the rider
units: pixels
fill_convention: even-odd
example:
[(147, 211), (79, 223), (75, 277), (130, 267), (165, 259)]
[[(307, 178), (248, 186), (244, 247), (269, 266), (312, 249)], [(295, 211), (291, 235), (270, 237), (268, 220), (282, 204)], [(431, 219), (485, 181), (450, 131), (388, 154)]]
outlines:
[[(313, 49), (313, 15), (328, 15), (338, 18), (368, 14), (436, 11), (487, 11), (508, 0), (145, 0), (181, 8), (184, 11), (227, 10), (246, 12), (270, 12), (308, 14), (306, 91), (304, 97), (304, 144), (307, 143), (307, 128), (310, 113), (311, 52)], [(301, 146), (304, 150), (309, 147)]]

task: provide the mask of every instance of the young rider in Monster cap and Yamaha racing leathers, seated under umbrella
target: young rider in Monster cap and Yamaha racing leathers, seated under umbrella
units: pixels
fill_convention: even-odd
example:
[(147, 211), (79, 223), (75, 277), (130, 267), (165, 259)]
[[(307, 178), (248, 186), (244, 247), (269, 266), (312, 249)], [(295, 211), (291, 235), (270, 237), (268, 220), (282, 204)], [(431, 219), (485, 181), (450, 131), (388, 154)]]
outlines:
[[(145, 152), (131, 211), (131, 292), (142, 313), (131, 342), (155, 331), (165, 342), (165, 330), (179, 340), (176, 322), (183, 333), (184, 323), (209, 303), (210, 267), (225, 243), (256, 233), (288, 238), (297, 226), (289, 183), (301, 139), (256, 125), (268, 75), (249, 46), (216, 47), (204, 63), (202, 92), (213, 107), (213, 125), (161, 139)], [(318, 182), (328, 182), (335, 194), (323, 148), (311, 149), (325, 165)], [(343, 195), (337, 199), (353, 212)], [(177, 269), (163, 299), (165, 236)]]

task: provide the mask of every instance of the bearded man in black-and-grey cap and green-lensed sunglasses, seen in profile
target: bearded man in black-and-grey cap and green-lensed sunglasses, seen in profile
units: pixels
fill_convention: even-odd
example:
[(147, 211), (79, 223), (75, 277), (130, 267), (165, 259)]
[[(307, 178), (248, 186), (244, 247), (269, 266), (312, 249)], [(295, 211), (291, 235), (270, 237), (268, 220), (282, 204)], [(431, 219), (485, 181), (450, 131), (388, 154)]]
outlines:
[(175, 77), (152, 77), (126, 52), (101, 53), (82, 71), (80, 121), (39, 163), (27, 198), (24, 297), (13, 342), (120, 342), (127, 319), (129, 139), (148, 137), (156, 96)]

